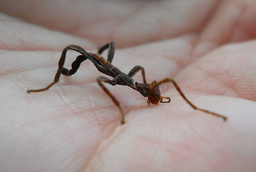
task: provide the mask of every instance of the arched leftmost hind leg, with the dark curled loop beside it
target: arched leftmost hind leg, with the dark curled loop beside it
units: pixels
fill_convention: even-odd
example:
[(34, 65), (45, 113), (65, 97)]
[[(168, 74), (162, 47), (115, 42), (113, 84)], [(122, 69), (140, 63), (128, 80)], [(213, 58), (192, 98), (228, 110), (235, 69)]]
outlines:
[[(79, 52), (79, 53), (82, 54), (82, 55), (79, 55), (77, 57), (76, 61), (73, 62), (72, 69), (70, 71), (68, 71), (68, 69), (63, 68), (68, 50), (75, 50), (76, 52)], [(98, 69), (102, 68), (102, 66), (100, 66), (97, 63), (97, 61), (95, 61), (95, 59), (93, 59), (93, 57), (90, 54), (88, 54), (83, 48), (81, 48), (77, 45), (68, 45), (66, 48), (64, 48), (64, 50), (61, 54), (60, 61), (59, 61), (59, 68), (58, 68), (58, 71), (57, 71), (57, 73), (54, 77), (54, 82), (52, 82), (50, 85), (48, 85), (47, 87), (45, 87), (43, 89), (27, 90), (27, 92), (28, 93), (30, 93), (30, 92), (41, 92), (41, 91), (45, 91), (45, 90), (50, 89), (52, 87), (52, 85), (54, 85), (55, 83), (57, 83), (60, 80), (61, 73), (63, 75), (66, 75), (66, 76), (73, 75), (74, 73), (76, 73), (76, 71), (79, 68), (81, 62), (85, 61), (86, 59), (90, 59), (90, 61), (93, 62), (93, 64), (96, 66), (96, 68), (98, 68)]]

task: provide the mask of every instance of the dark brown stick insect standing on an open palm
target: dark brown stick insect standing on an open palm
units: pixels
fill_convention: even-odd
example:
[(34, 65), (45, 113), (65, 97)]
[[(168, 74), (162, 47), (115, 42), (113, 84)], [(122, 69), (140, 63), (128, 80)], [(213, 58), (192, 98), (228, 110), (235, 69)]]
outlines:
[[(108, 49), (108, 59), (106, 60), (106, 59), (104, 59), (104, 57), (101, 56), (101, 54), (102, 54), (102, 52), (104, 52), (104, 50), (107, 50), (107, 49)], [(72, 63), (72, 69), (70, 69), (70, 70), (63, 68), (68, 50), (74, 50), (74, 51), (82, 54), (82, 55), (77, 56), (76, 61), (74, 61)], [(221, 117), (221, 118), (223, 118), (224, 121), (227, 120), (227, 117), (225, 117), (223, 115), (220, 115), (218, 113), (214, 113), (212, 111), (205, 110), (202, 108), (198, 108), (193, 103), (191, 103), (191, 101), (189, 101), (188, 98), (180, 90), (179, 85), (172, 78), (166, 78), (164, 80), (161, 80), (160, 82), (154, 81), (149, 84), (146, 82), (145, 70), (142, 66), (135, 66), (126, 75), (125, 73), (123, 73), (122, 71), (120, 71), (118, 68), (116, 68), (115, 66), (113, 66), (111, 64), (111, 62), (113, 61), (113, 58), (114, 58), (114, 54), (115, 54), (115, 42), (114, 41), (99, 48), (98, 54), (86, 52), (83, 48), (81, 48), (77, 45), (68, 45), (67, 47), (64, 48), (64, 50), (61, 54), (60, 61), (59, 61), (59, 68), (54, 77), (54, 82), (52, 82), (50, 85), (48, 85), (47, 87), (45, 87), (43, 89), (32, 89), (32, 90), (27, 90), (27, 92), (28, 93), (42, 92), (42, 91), (50, 89), (52, 87), (52, 85), (54, 85), (55, 83), (57, 83), (59, 81), (61, 74), (65, 75), (65, 76), (74, 75), (76, 73), (77, 69), (79, 69), (81, 62), (85, 61), (86, 59), (89, 59), (90, 61), (92, 61), (92, 63), (95, 65), (95, 67), (100, 72), (113, 77), (113, 80), (109, 80), (108, 78), (99, 76), (97, 78), (97, 82), (99, 83), (100, 87), (104, 90), (104, 92), (106, 92), (106, 94), (108, 94), (108, 96), (112, 99), (113, 103), (115, 103), (116, 106), (118, 107), (118, 109), (120, 110), (120, 113), (122, 115), (121, 124), (125, 123), (124, 111), (120, 107), (120, 104), (117, 101), (117, 99), (115, 98), (115, 96), (113, 96), (113, 94), (111, 94), (111, 92), (109, 92), (109, 90), (105, 87), (103, 82), (109, 83), (110, 85), (127, 85), (127, 86), (131, 87), (132, 89), (137, 90), (138, 92), (141, 93), (142, 96), (148, 97), (148, 100), (147, 100), (148, 106), (150, 105), (150, 103), (152, 103), (152, 104), (158, 104), (159, 102), (160, 103), (170, 103), (170, 101), (171, 101), (170, 97), (161, 96), (159, 86), (162, 85), (163, 83), (172, 82), (173, 86), (179, 92), (180, 96), (182, 96), (183, 99), (193, 109), (199, 110), (199, 111), (204, 111), (205, 113), (209, 113), (216, 117)], [(136, 73), (138, 73), (139, 71), (141, 71), (143, 83), (136, 82), (135, 80), (132, 79), (132, 76), (136, 75)]]

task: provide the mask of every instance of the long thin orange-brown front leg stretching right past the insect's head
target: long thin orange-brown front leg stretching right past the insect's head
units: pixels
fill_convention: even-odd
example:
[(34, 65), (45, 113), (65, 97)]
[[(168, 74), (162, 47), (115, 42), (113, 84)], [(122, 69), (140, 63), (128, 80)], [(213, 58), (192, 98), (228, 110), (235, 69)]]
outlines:
[(166, 79), (162, 80), (161, 82), (158, 82), (158, 85), (161, 85), (161, 84), (166, 83), (166, 82), (172, 82), (173, 85), (174, 85), (174, 87), (175, 87), (175, 89), (179, 92), (180, 96), (182, 96), (183, 99), (184, 99), (192, 108), (194, 108), (195, 110), (204, 111), (205, 113), (209, 113), (209, 114), (214, 115), (214, 116), (216, 116), (216, 117), (221, 117), (221, 118), (223, 118), (224, 121), (227, 120), (227, 117), (225, 117), (225, 116), (223, 116), (223, 115), (220, 115), (220, 114), (218, 114), (218, 113), (214, 113), (214, 112), (212, 112), (212, 111), (204, 110), (204, 109), (201, 109), (201, 108), (196, 107), (196, 106), (195, 106), (193, 103), (191, 103), (191, 101), (189, 101), (188, 98), (183, 94), (183, 92), (180, 90), (179, 85), (178, 85), (172, 78), (166, 78)]

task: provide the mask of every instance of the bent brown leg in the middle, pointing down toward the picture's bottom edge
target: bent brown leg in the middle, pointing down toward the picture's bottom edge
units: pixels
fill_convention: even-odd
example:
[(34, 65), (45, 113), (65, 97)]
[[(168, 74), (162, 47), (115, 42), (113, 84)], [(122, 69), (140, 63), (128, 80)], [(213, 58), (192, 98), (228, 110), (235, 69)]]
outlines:
[(125, 123), (125, 117), (124, 117), (124, 111), (122, 110), (122, 108), (120, 107), (119, 102), (116, 100), (116, 98), (113, 96), (113, 94), (111, 94), (111, 92), (109, 92), (109, 90), (105, 87), (105, 85), (102, 82), (106, 82), (109, 83), (111, 85), (116, 85), (116, 82), (114, 82), (113, 80), (109, 80), (108, 78), (99, 76), (97, 78), (97, 82), (99, 83), (100, 87), (104, 90), (104, 92), (106, 92), (106, 94), (108, 94), (108, 96), (112, 99), (113, 103), (116, 104), (116, 106), (118, 107), (118, 109), (121, 112), (121, 124)]

